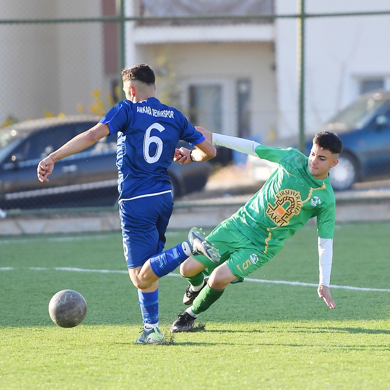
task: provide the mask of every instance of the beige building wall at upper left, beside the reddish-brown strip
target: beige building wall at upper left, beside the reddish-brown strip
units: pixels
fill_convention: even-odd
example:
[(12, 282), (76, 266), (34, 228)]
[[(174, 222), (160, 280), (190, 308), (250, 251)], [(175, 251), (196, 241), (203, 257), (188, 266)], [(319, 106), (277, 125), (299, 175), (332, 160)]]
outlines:
[[(0, 0), (2, 19), (101, 16), (96, 0)], [(0, 125), (9, 116), (39, 118), (77, 113), (107, 91), (102, 23), (0, 24)]]

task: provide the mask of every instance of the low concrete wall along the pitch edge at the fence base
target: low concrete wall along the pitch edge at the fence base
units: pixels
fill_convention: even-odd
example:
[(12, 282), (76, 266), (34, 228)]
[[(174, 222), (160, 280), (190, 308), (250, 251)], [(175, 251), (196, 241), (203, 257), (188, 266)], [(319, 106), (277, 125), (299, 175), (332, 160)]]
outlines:
[[(202, 202), (196, 205), (180, 208), (180, 202), (174, 210), (168, 229), (188, 230), (193, 226), (214, 228), (221, 221), (229, 218), (237, 209), (249, 199), (249, 195), (235, 198), (212, 199), (202, 206)], [(365, 202), (338, 202), (336, 208), (336, 223), (350, 223), (363, 221), (390, 221), (390, 201), (388, 199), (367, 200)], [(309, 221), (315, 224), (315, 219)], [(51, 216), (7, 216), (0, 219), (1, 236), (21, 236), (39, 234), (68, 234), (86, 232), (118, 231), (120, 234), (120, 221), (117, 211), (80, 214), (62, 214)]]

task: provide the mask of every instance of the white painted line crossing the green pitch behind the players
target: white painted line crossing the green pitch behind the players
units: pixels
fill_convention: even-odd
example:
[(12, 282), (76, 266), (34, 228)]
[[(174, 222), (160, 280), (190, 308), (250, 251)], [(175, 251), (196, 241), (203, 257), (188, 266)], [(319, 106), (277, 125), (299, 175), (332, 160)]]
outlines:
[[(29, 267), (29, 270), (33, 271), (71, 271), (71, 272), (97, 272), (100, 274), (127, 274), (127, 271), (121, 270), (91, 270), (85, 268), (69, 268), (69, 267), (56, 267), (56, 268), (40, 268), (40, 267)], [(15, 270), (13, 267), (4, 267), (0, 268), (0, 271), (12, 271)], [(168, 274), (167, 276), (179, 276), (180, 274)], [(287, 280), (267, 280), (267, 279), (251, 279), (245, 278), (245, 282), (254, 282), (254, 283), (268, 283), (268, 284), (287, 284), (290, 286), (302, 286), (302, 287), (318, 287), (318, 284), (315, 283), (304, 283), (304, 282), (290, 282)], [(380, 292), (390, 292), (390, 289), (387, 288), (368, 288), (368, 287), (354, 287), (354, 286), (338, 286), (336, 284), (331, 284), (331, 288), (341, 288), (343, 290), (357, 290), (357, 291), (380, 291)]]

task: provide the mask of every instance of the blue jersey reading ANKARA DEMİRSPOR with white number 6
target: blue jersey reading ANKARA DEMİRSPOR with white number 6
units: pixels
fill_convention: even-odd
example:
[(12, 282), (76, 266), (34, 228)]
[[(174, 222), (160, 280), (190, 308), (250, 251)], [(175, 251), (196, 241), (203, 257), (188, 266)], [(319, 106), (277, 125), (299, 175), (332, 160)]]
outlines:
[(205, 140), (179, 110), (154, 97), (123, 100), (100, 122), (117, 134), (119, 200), (171, 191), (167, 169), (179, 140), (191, 145)]

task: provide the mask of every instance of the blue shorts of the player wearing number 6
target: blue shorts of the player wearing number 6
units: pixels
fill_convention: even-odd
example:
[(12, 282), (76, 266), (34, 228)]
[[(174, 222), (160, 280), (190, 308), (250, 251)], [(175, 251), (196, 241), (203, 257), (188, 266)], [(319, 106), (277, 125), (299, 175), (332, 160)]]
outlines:
[(123, 253), (128, 269), (141, 267), (149, 257), (162, 252), (173, 207), (170, 192), (119, 202)]

